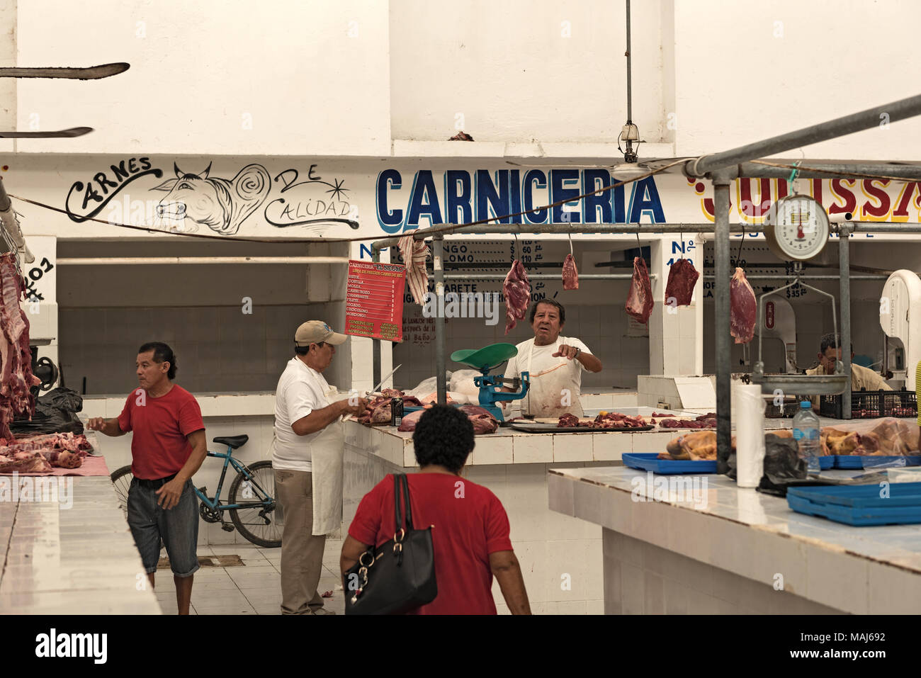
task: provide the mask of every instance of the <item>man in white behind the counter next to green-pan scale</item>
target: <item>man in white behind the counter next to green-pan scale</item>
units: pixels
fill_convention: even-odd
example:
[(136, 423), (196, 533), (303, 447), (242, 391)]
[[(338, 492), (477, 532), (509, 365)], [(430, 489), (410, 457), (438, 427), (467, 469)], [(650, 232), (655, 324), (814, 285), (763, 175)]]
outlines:
[(534, 338), (517, 346), (518, 356), (508, 361), (505, 371), (509, 379), (529, 372), (530, 388), (523, 400), (509, 403), (509, 414), (517, 404), (523, 415), (582, 416), (582, 370), (600, 372), (601, 361), (580, 340), (560, 336), (565, 320), (563, 305), (553, 299), (541, 299), (530, 308)]

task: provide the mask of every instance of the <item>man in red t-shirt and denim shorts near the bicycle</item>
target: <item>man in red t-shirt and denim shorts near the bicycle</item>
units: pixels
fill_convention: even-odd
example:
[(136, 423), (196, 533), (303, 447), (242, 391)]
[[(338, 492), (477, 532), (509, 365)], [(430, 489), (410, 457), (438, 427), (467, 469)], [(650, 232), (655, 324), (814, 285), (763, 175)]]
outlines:
[(192, 393), (172, 382), (176, 357), (168, 345), (151, 342), (137, 350), (140, 388), (114, 419), (94, 417), (88, 427), (107, 436), (134, 431), (128, 490), (128, 526), (150, 585), (166, 545), (176, 582), (179, 614), (189, 614), (192, 576), (198, 569), (198, 502), (192, 475), (208, 453), (202, 410)]

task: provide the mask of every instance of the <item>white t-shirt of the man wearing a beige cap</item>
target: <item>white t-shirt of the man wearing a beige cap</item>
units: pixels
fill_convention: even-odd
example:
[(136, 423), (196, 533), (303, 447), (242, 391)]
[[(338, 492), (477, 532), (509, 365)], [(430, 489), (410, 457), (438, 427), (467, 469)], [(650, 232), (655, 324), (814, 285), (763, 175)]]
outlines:
[(307, 471), (310, 466), (310, 442), (322, 430), (298, 436), (291, 427), (298, 419), (330, 404), (326, 397), (330, 385), (323, 375), (304, 364), (299, 357), (288, 360), (275, 388), (275, 450), (272, 466), (286, 471)]

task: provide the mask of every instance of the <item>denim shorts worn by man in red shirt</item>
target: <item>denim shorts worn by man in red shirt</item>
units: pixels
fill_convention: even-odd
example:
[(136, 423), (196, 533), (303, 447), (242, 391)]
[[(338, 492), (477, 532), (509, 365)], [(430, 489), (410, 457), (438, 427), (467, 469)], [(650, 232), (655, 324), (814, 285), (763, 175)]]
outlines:
[(157, 506), (157, 490), (142, 487), (137, 478), (128, 490), (128, 527), (141, 552), (147, 574), (157, 571), (160, 542), (167, 547), (169, 567), (177, 577), (190, 577), (198, 569), (198, 501), (190, 478), (179, 503), (172, 509)]

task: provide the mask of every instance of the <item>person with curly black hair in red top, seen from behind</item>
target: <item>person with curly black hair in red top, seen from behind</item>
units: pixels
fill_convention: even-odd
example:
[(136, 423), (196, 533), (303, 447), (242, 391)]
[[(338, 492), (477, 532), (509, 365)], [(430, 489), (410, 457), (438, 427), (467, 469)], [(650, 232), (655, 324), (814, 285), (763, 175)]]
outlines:
[[(461, 477), (473, 450), (467, 415), (436, 405), (419, 418), (413, 434), (419, 473), (407, 474), (415, 529), (433, 526), (438, 594), (416, 614), (495, 614), (493, 577), (512, 614), (530, 614), (518, 558), (508, 538), (506, 510), (483, 485)], [(393, 538), (393, 478), (385, 477), (362, 498), (343, 543), (345, 572), (367, 551)], [(352, 595), (344, 580), (346, 595)]]

